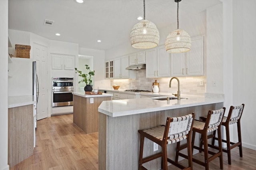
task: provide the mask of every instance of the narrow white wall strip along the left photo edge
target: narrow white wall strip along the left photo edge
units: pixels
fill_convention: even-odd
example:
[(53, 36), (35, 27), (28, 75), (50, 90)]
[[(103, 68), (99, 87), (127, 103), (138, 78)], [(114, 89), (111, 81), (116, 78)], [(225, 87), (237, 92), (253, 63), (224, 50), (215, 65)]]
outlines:
[(0, 0), (0, 170), (8, 165), (8, 0)]

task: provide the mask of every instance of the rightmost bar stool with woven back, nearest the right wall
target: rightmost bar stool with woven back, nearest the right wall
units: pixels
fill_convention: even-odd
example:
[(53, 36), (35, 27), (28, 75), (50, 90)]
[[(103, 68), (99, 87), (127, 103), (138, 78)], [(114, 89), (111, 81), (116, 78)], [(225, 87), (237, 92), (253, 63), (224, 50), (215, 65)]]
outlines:
[[(226, 152), (228, 154), (228, 164), (231, 165), (231, 149), (235, 148), (236, 146), (239, 147), (239, 155), (240, 157), (243, 157), (242, 154), (242, 137), (241, 137), (241, 126), (240, 126), (240, 120), (242, 113), (244, 111), (244, 104), (240, 106), (230, 106), (228, 116), (223, 117), (222, 120), (222, 126), (226, 129), (226, 140), (222, 139), (222, 142), (225, 142), (227, 144), (227, 149), (222, 148), (223, 152)], [(206, 120), (205, 117), (200, 117), (203, 121)], [(231, 142), (230, 141), (230, 133), (229, 133), (229, 125), (237, 125), (237, 133), (238, 133), (238, 142)], [(212, 138), (212, 144), (209, 145), (211, 148), (218, 148), (218, 146), (214, 145), (215, 140), (218, 140), (218, 138), (215, 136), (215, 132), (212, 135), (209, 135), (208, 138)]]

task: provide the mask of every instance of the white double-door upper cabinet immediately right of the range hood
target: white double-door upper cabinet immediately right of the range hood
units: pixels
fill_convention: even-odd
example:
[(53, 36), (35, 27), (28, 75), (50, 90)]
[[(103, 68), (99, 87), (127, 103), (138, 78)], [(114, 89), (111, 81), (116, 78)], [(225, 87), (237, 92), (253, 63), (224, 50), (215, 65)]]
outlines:
[(169, 77), (170, 54), (165, 46), (159, 46), (146, 51), (146, 78)]

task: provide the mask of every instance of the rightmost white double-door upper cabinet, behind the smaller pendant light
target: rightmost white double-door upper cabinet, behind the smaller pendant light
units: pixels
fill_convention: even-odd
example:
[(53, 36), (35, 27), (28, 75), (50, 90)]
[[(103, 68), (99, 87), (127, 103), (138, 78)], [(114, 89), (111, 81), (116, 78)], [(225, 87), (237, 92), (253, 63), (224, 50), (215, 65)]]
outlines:
[(171, 76), (204, 75), (204, 36), (191, 38), (186, 53), (171, 53)]

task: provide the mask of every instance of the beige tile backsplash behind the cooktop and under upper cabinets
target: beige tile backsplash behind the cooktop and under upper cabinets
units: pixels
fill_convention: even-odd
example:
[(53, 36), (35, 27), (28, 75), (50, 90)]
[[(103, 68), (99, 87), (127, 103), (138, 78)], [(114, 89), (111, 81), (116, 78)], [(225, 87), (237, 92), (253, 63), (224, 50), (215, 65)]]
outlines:
[[(146, 70), (136, 71), (136, 79), (112, 79), (111, 85), (120, 85), (120, 89), (139, 89), (152, 91), (152, 83), (155, 80), (159, 81), (159, 92), (162, 93), (177, 93), (178, 82), (176, 79), (172, 80), (172, 87), (169, 87), (171, 77), (164, 78), (146, 78)], [(187, 95), (204, 95), (206, 86), (205, 76), (193, 77), (178, 77), (180, 80), (180, 93)], [(200, 86), (200, 81), (203, 85)]]

